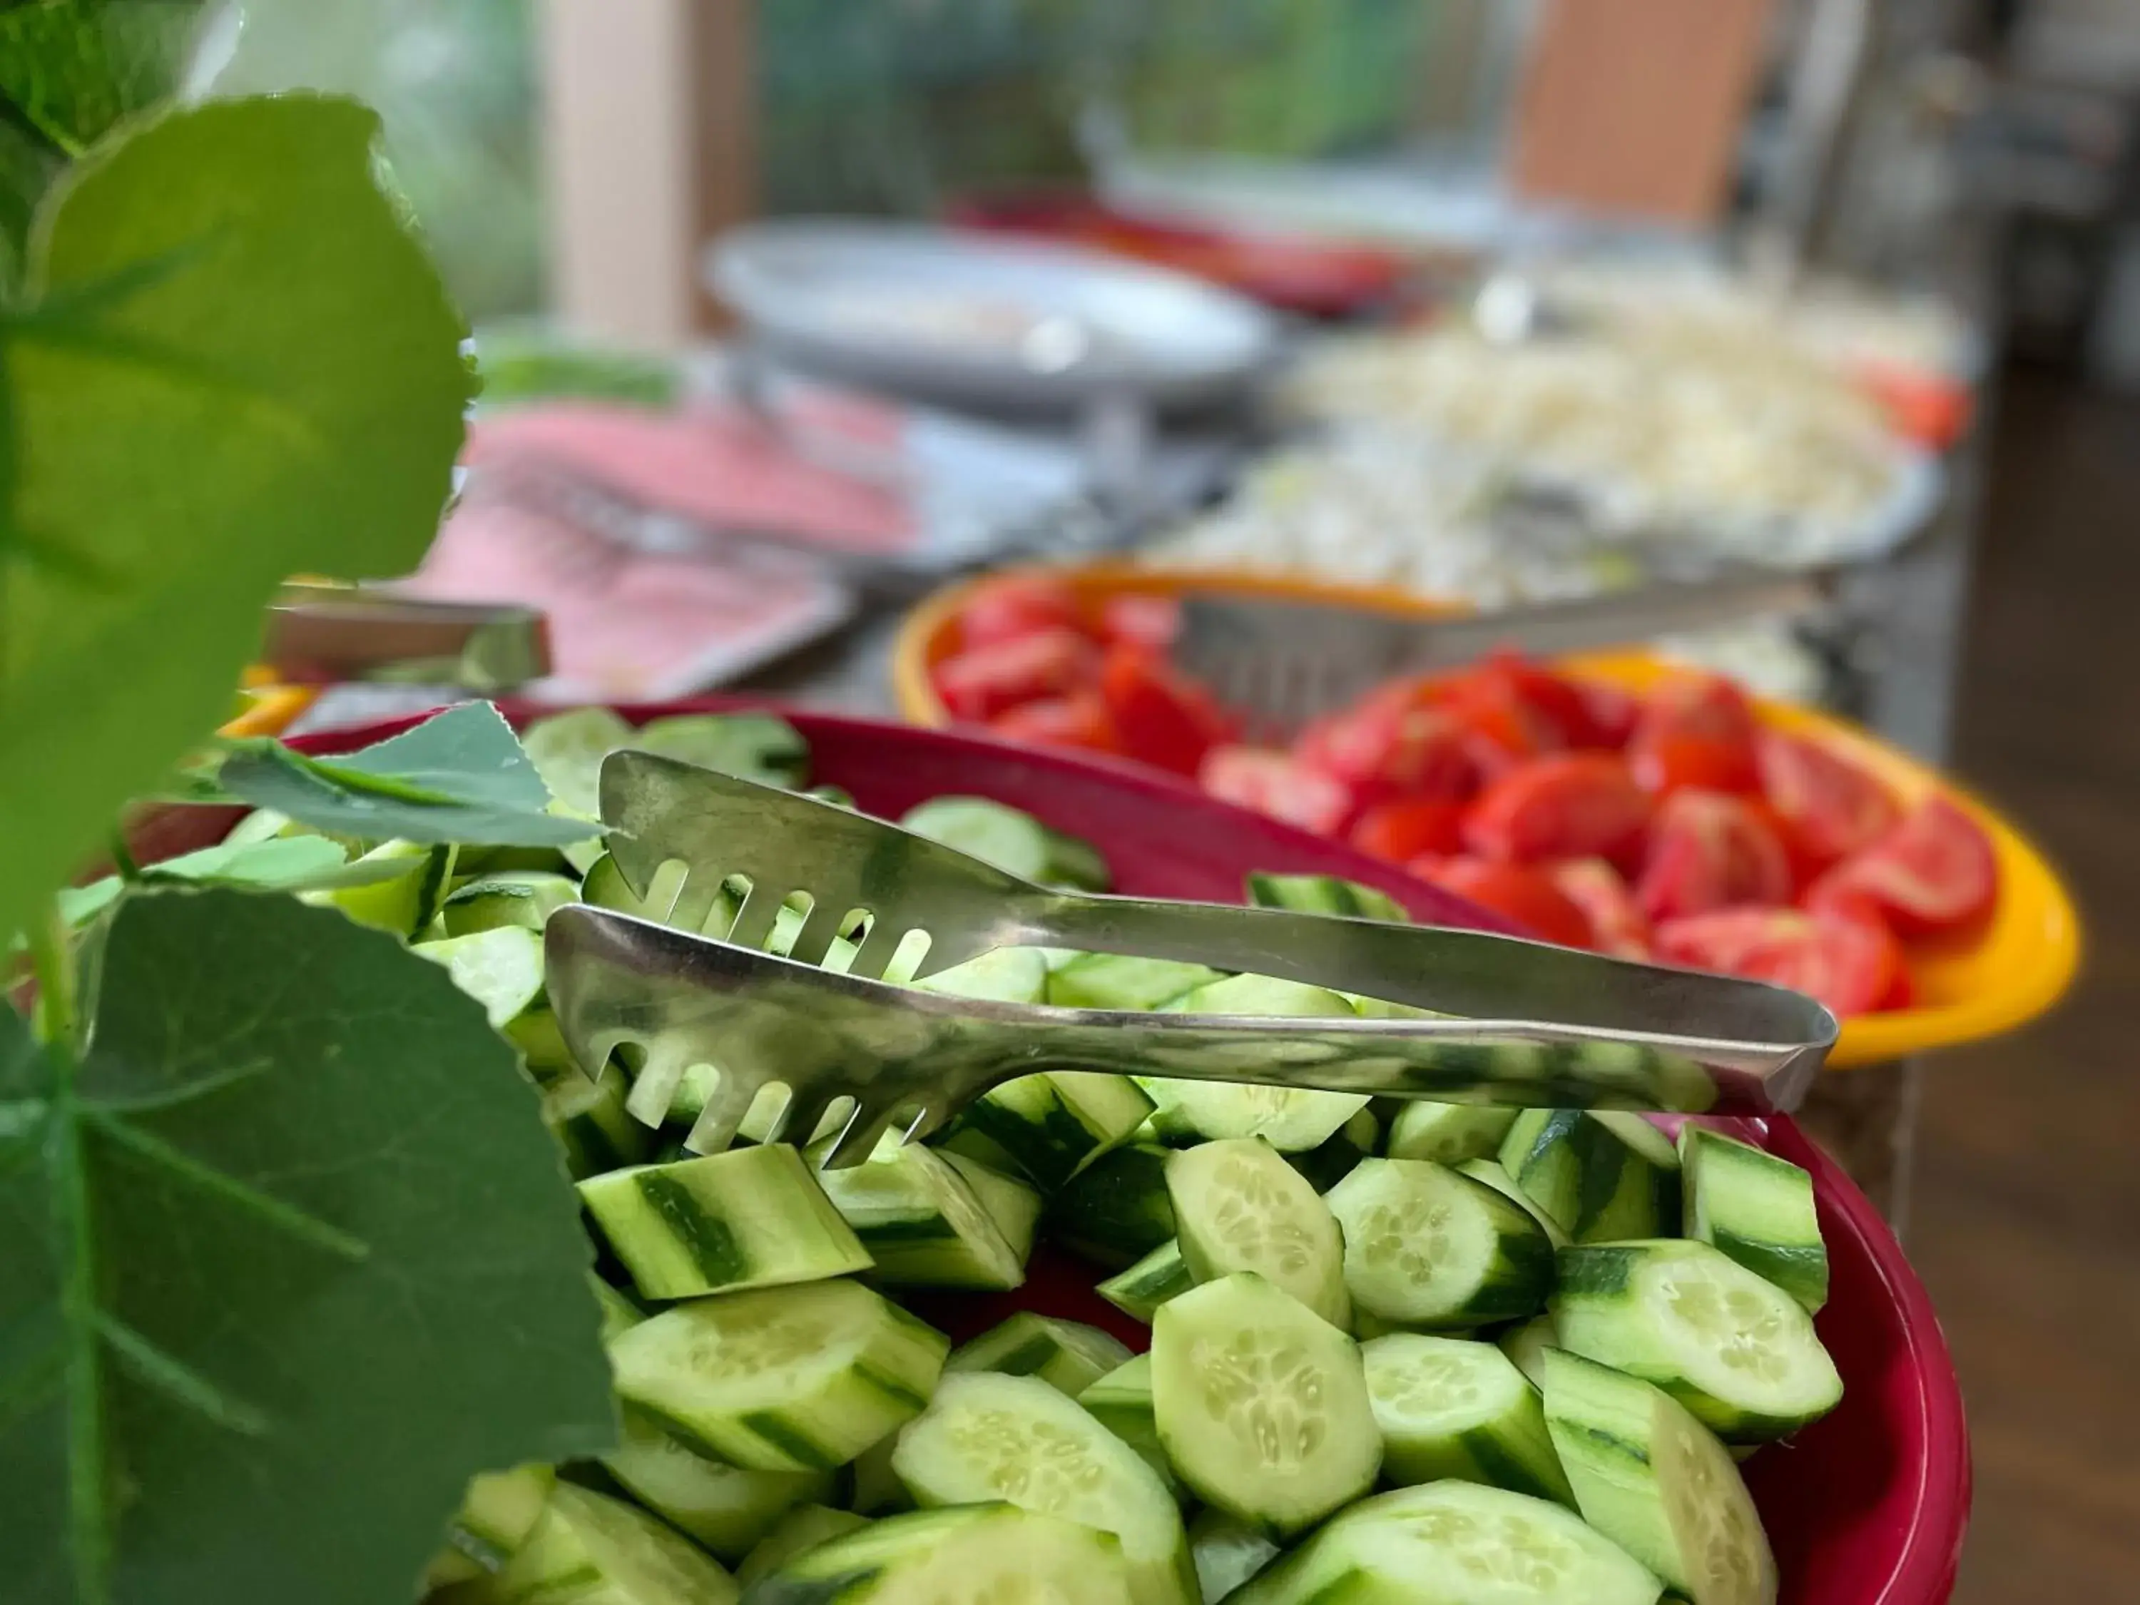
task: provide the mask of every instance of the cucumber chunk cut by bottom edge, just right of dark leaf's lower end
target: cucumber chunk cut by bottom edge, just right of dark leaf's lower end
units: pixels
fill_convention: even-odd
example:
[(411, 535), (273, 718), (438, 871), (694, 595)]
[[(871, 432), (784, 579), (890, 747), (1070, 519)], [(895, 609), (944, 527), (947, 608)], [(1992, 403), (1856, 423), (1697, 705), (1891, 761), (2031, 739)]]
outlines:
[(644, 1511), (574, 1483), (496, 1577), (514, 1605), (734, 1605), (740, 1590), (706, 1554)]

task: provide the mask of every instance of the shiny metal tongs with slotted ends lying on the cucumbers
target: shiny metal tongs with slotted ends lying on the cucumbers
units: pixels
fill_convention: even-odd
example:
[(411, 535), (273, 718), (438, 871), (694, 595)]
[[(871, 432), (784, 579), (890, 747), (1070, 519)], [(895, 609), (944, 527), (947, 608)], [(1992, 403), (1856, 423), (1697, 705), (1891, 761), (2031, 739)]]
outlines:
[[(550, 1004), (588, 1072), (618, 1046), (646, 1055), (629, 1104), (642, 1121), (668, 1113), (687, 1070), (717, 1068), (685, 1143), (702, 1153), (725, 1147), (775, 1083), (790, 1098), (768, 1141), (809, 1141), (835, 1100), (854, 1100), (828, 1156), (843, 1166), (895, 1117), (914, 1141), (1036, 1070), (1532, 1106), (1791, 1109), (1836, 1040), (1810, 997), (1751, 980), (1481, 931), (1061, 892), (850, 809), (653, 753), (603, 762), (601, 817), (640, 897), (666, 865), (687, 873), (668, 924), (588, 905), (550, 916)], [(728, 939), (691, 935), (732, 875), (749, 892)], [(760, 952), (796, 890), (811, 905), (792, 957)], [(858, 912), (869, 927), (852, 965), (820, 969)], [(1031, 944), (1194, 961), (1459, 1019), (1134, 1014), (882, 980), (916, 929), (929, 933), (920, 978)]]

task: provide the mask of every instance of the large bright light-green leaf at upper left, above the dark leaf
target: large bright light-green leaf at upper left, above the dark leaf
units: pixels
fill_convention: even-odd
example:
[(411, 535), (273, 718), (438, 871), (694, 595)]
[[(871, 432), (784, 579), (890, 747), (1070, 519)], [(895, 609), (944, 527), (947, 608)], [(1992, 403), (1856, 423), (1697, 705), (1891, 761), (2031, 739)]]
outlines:
[(464, 330), (377, 135), (173, 111), (39, 214), (0, 304), (0, 931), (216, 725), (289, 574), (407, 571), (437, 529)]

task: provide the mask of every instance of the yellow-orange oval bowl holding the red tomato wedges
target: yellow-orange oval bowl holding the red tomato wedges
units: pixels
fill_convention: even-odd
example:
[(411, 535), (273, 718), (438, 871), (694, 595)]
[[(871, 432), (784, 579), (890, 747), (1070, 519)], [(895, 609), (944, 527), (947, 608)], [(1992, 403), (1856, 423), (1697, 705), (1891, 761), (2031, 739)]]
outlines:
[[(1091, 563), (1051, 569), (1051, 574), (1089, 601), (1117, 593), (1218, 591), (1350, 603), (1421, 618), (1462, 612), (1455, 603), (1408, 591), (1325, 586), (1269, 574), (1160, 569), (1130, 563)], [(957, 651), (954, 623), (976, 584), (980, 582), (969, 580), (937, 591), (901, 625), (892, 648), (892, 691), (901, 715), (914, 723), (950, 723), (950, 713), (937, 702), (929, 672)], [(1644, 691), (1663, 678), (1688, 672), (1656, 653), (1641, 651), (1573, 657), (1566, 668), (1629, 691)], [(2080, 967), (2080, 916), (2059, 873), (2020, 830), (1954, 781), (1853, 723), (1761, 698), (1755, 700), (1755, 708), (1766, 723), (1778, 730), (1832, 745), (1879, 775), (1905, 800), (1945, 792), (1984, 826), (1999, 860), (1999, 903), (1984, 929), (1967, 942), (1913, 944), (1909, 978), (1915, 1002), (1909, 1008), (1845, 1021), (1843, 1040), (1828, 1055), (1830, 1068), (1885, 1064), (1928, 1049), (1977, 1042), (2012, 1031), (2059, 1002)]]

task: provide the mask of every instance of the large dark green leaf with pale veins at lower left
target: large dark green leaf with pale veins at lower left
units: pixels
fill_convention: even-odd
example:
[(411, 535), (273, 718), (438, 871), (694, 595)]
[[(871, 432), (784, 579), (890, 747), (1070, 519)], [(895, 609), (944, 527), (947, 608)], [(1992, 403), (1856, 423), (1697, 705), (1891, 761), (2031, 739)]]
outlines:
[(482, 1006), (287, 897), (131, 897), (79, 1070), (0, 1008), (11, 1605), (392, 1605), (467, 1479), (614, 1440)]

